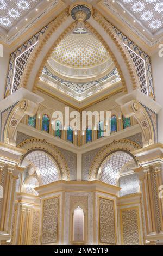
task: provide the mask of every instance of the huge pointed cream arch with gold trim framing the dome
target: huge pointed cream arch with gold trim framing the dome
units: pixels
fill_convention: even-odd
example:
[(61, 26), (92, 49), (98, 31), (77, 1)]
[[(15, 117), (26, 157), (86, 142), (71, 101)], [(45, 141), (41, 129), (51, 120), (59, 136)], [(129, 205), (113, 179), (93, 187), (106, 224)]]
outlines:
[[(93, 17), (85, 22), (84, 26), (91, 31), (92, 35), (94, 34), (102, 41), (118, 69), (124, 92), (130, 92), (131, 90), (140, 87), (134, 64), (130, 59), (128, 51), (110, 26), (109, 22), (106, 20), (103, 22), (103, 19), (104, 18), (95, 11)], [(100, 26), (98, 31), (93, 28), (93, 22)], [(106, 24), (106, 22), (108, 23)], [(26, 87), (29, 90), (36, 91), (37, 81), (39, 80), (43, 66), (45, 66), (49, 56), (51, 56), (54, 47), (76, 27), (77, 22), (72, 20), (67, 9), (49, 25), (49, 28), (45, 34), (42, 35), (42, 39), (38, 42), (33, 53), (29, 57), (26, 69), (21, 78), (20, 87)], [(100, 28), (104, 30), (105, 38), (99, 33), (101, 30)], [(107, 36), (111, 40), (110, 45), (106, 43)], [(117, 54), (116, 57), (115, 53)]]

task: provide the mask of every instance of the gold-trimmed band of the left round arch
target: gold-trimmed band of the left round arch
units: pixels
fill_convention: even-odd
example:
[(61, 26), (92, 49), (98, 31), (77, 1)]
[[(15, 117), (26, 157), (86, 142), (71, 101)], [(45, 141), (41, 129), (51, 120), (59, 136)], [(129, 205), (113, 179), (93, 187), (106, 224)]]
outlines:
[(45, 139), (27, 139), (26, 141), (23, 141), (20, 144), (18, 144), (17, 147), (27, 150), (27, 152), (21, 156), (20, 164), (22, 163), (24, 157), (26, 157), (26, 155), (30, 153), (32, 150), (42, 150), (48, 153), (57, 163), (62, 179), (70, 180), (70, 170), (66, 163), (65, 157), (61, 154), (57, 147), (48, 143), (47, 141), (45, 141)]

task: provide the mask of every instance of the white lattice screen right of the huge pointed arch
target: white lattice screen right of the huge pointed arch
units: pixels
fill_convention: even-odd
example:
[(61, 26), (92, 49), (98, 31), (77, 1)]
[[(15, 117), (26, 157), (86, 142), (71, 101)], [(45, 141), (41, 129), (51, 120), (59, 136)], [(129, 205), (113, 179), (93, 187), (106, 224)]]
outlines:
[(124, 46), (127, 48), (130, 57), (133, 60), (137, 75), (139, 77), (141, 92), (148, 95), (145, 60), (131, 50), (127, 45), (124, 44)]

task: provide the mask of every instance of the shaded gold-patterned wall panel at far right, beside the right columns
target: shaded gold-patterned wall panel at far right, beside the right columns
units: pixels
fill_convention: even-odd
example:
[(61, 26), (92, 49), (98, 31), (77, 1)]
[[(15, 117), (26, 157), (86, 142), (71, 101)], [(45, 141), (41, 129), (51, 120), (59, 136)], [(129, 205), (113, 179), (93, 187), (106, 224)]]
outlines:
[(120, 209), (122, 245), (140, 245), (139, 207)]

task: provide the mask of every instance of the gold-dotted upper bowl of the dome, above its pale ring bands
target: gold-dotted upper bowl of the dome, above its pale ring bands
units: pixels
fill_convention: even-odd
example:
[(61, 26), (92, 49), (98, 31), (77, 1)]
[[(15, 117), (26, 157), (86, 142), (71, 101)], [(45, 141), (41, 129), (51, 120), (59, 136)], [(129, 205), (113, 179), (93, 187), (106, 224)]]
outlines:
[(53, 52), (55, 61), (66, 66), (88, 68), (104, 63), (109, 58), (103, 44), (90, 34), (70, 34)]

